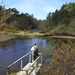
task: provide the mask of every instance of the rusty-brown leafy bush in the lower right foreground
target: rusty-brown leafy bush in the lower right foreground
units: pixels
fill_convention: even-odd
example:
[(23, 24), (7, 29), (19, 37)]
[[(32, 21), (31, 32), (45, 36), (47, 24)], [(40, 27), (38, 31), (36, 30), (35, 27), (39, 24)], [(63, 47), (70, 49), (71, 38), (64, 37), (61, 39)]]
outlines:
[(41, 75), (75, 75), (75, 43), (61, 43), (53, 54), (50, 64), (41, 70)]

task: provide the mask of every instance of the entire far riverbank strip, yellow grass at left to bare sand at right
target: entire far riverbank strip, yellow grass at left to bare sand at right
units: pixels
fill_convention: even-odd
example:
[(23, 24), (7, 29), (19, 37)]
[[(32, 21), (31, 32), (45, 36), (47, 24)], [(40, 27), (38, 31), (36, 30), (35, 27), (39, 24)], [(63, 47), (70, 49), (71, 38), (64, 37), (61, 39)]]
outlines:
[[(15, 38), (33, 38), (33, 37), (45, 37), (49, 36), (43, 33), (39, 32), (30, 32), (30, 31), (18, 31), (18, 32), (0, 32), (0, 42), (8, 41), (10, 39)], [(75, 40), (75, 37), (73, 36), (49, 36), (50, 38), (58, 38), (58, 39), (73, 39)]]

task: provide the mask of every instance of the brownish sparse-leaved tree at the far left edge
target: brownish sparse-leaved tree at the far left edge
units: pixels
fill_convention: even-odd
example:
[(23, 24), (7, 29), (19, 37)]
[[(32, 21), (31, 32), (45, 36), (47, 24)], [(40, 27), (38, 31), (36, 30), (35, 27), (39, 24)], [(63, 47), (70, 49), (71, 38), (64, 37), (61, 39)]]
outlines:
[(4, 6), (0, 6), (0, 29), (7, 27), (6, 20), (11, 16), (11, 12), (5, 9)]

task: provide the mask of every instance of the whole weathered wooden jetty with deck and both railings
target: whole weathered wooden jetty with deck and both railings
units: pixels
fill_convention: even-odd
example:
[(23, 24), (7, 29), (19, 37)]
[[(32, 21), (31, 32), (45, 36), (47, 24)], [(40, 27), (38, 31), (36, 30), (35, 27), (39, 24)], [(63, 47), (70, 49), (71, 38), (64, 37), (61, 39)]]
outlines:
[[(39, 56), (33, 62), (31, 62), (31, 59), (32, 59), (31, 54), (32, 53), (29, 52), (26, 55), (24, 55), (23, 57), (21, 57), (20, 59), (18, 59), (17, 61), (15, 61), (14, 63), (12, 63), (11, 65), (9, 65), (7, 67), (7, 75), (9, 75), (9, 68), (19, 61), (21, 61), (21, 67), (20, 67), (21, 71), (19, 71), (17, 73), (17, 75), (36, 75), (36, 73), (39, 71), (39, 69), (42, 66), (42, 53), (38, 53)], [(23, 67), (23, 58), (25, 58), (27, 55), (29, 55), (29, 63)], [(40, 62), (38, 62), (39, 60), (40, 60)]]

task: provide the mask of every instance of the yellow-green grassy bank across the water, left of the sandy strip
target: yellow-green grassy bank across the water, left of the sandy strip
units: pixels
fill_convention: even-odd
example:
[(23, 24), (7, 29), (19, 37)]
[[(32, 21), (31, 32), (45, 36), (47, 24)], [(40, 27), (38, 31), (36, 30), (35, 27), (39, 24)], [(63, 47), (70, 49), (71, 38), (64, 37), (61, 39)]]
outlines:
[(32, 37), (41, 37), (45, 36), (45, 34), (39, 32), (32, 32), (32, 31), (0, 31), (0, 42), (8, 41), (14, 38), (32, 38)]

